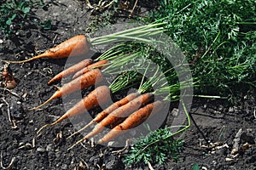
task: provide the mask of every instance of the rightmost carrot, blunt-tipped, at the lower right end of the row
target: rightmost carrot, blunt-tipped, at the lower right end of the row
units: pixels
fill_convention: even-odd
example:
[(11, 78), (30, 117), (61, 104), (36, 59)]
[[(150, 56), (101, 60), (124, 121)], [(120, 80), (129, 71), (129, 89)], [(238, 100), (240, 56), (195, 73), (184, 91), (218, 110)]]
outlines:
[(108, 132), (102, 139), (99, 139), (98, 143), (99, 144), (107, 143), (110, 139), (114, 139), (120, 133), (124, 133), (125, 130), (131, 129), (132, 127), (137, 127), (138, 125), (146, 121), (148, 116), (152, 114), (151, 112), (153, 111), (153, 109), (154, 109), (154, 112), (156, 112), (156, 111), (160, 111), (161, 107), (162, 107), (162, 103), (158, 100), (154, 103), (144, 106), (138, 111), (133, 112), (131, 116), (128, 116), (125, 119), (124, 122), (120, 123), (116, 127), (113, 127), (113, 129), (111, 129), (111, 131)]

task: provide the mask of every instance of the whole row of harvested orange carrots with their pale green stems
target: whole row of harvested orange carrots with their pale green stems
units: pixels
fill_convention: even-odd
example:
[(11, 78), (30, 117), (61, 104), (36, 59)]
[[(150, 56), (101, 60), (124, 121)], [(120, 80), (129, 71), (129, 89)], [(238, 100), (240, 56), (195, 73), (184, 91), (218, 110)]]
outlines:
[[(160, 27), (161, 25), (163, 25), (163, 23), (139, 26), (130, 30), (120, 31), (107, 36), (96, 37), (92, 39), (85, 37), (84, 35), (79, 35), (68, 39), (66, 42), (62, 42), (54, 48), (49, 48), (44, 52), (44, 54), (39, 54), (38, 56), (32, 57), (31, 59), (22, 61), (3, 60), (3, 62), (25, 63), (34, 59), (41, 58), (61, 59), (81, 55), (85, 56), (89, 52), (90, 46), (134, 40), (139, 40), (142, 42), (153, 42), (154, 40), (148, 37), (162, 33), (164, 30), (162, 27)], [(51, 80), (49, 80), (49, 85), (60, 81), (64, 77), (73, 76), (73, 79), (59, 88), (55, 94), (53, 94), (42, 105), (38, 105), (30, 110), (37, 110), (53, 99), (60, 98), (75, 91), (96, 85), (96, 83), (101, 82), (104, 78), (103, 73), (113, 74), (118, 70), (117, 68), (120, 65), (125, 64), (127, 59), (129, 60), (137, 58), (137, 53), (131, 53), (125, 50), (115, 50), (123, 46), (125, 46), (125, 43), (121, 43), (114, 48), (110, 48), (98, 59), (84, 59), (79, 63), (67, 68), (66, 70), (61, 71)], [(137, 75), (134, 76), (137, 79)], [(163, 101), (157, 100), (153, 102), (155, 93), (149, 92), (152, 84), (160, 80), (160, 78), (156, 79), (156, 77), (157, 76), (154, 76), (146, 82), (142, 81), (141, 86), (136, 93), (128, 94), (125, 98), (116, 101), (112, 105), (109, 105), (108, 108), (97, 114), (97, 116), (91, 122), (76, 132), (79, 133), (86, 127), (90, 127), (93, 124), (96, 125), (90, 133), (88, 133), (83, 139), (79, 140), (79, 142), (76, 144), (79, 144), (85, 139), (90, 139), (96, 134), (101, 133), (104, 127), (108, 127), (109, 125), (114, 124), (113, 128), (105, 136), (103, 136), (102, 139), (98, 140), (98, 143), (100, 144), (107, 143), (108, 141), (116, 138), (119, 133), (124, 133), (125, 130), (140, 125), (154, 112), (160, 111), (163, 106)], [(95, 88), (90, 92), (90, 94), (81, 99), (58, 120), (41, 127), (38, 130), (38, 133), (40, 133), (44, 127), (54, 126), (55, 124), (67, 119), (67, 117), (78, 116), (85, 111), (90, 111), (93, 108), (107, 103), (110, 100), (108, 96), (110, 96), (111, 93), (125, 88), (126, 85), (127, 84), (117, 88), (112, 83), (112, 85), (109, 87), (99, 86)], [(73, 133), (73, 135), (76, 133)]]

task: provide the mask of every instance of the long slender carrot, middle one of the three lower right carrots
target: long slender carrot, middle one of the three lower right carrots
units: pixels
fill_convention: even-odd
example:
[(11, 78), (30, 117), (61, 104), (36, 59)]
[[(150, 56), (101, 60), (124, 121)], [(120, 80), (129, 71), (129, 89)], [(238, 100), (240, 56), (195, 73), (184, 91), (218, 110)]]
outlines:
[(88, 133), (83, 139), (80, 139), (78, 142), (73, 144), (73, 146), (71, 146), (69, 150), (72, 149), (75, 145), (83, 142), (85, 139), (90, 139), (91, 137), (95, 136), (97, 133), (101, 133), (104, 127), (117, 121), (119, 117), (125, 117), (125, 116), (128, 116), (133, 111), (137, 111), (137, 109), (139, 109), (142, 105), (146, 105), (152, 99), (152, 97), (153, 97), (153, 94), (150, 94), (150, 93), (140, 95), (137, 98), (132, 99), (126, 105), (122, 105), (118, 109), (114, 110), (108, 116), (106, 116), (101, 122), (96, 124), (94, 129), (90, 133)]

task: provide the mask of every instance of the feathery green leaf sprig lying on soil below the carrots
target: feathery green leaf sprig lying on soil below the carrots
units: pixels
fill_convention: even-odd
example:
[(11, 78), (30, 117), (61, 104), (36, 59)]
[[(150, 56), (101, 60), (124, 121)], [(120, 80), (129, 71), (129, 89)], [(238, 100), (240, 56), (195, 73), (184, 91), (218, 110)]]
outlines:
[(147, 164), (162, 164), (168, 158), (178, 160), (178, 153), (183, 150), (183, 140), (172, 139), (172, 133), (168, 127), (160, 128), (154, 132), (142, 136), (132, 145), (129, 155), (125, 156), (125, 164), (131, 165), (143, 161)]

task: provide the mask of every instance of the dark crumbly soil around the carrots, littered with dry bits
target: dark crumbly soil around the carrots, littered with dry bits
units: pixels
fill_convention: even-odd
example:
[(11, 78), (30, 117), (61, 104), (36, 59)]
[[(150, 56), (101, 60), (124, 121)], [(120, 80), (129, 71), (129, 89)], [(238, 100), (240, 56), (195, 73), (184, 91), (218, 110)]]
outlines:
[[(52, 20), (53, 28), (49, 31), (28, 27), (16, 31), (15, 37), (10, 38), (1, 32), (0, 58), (26, 59), (69, 37), (86, 33), (86, 26), (95, 15), (83, 3), (60, 0), (49, 3), (47, 10), (35, 10), (39, 18)], [(143, 2), (137, 4), (139, 11), (150, 8)], [(124, 20), (128, 18), (118, 18), (119, 22)], [(28, 108), (43, 103), (55, 92), (57, 87), (48, 86), (47, 82), (63, 70), (64, 65), (65, 59), (38, 59), (9, 65), (18, 85), (10, 91), (0, 88), (1, 168), (11, 164), (11, 169), (148, 169), (143, 163), (125, 166), (124, 155), (113, 153), (119, 149), (108, 146), (91, 146), (90, 142), (85, 142), (67, 150), (81, 138), (67, 139), (75, 131), (69, 120), (49, 127), (37, 137), (38, 127), (53, 122), (65, 108), (61, 99), (53, 100), (39, 111), (28, 111)], [(192, 125), (181, 137), (184, 149), (179, 161), (170, 158), (164, 164), (153, 164), (152, 167), (192, 169), (198, 164), (200, 169), (256, 169), (254, 97), (255, 92), (248, 91), (237, 105), (230, 105), (224, 99), (194, 99), (190, 111)], [(12, 122), (9, 122), (9, 115)], [(171, 123), (169, 119), (172, 118), (167, 117), (167, 125)], [(234, 139), (238, 139), (238, 150), (232, 155), (231, 150), (236, 145)]]

